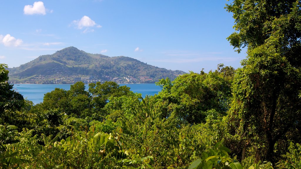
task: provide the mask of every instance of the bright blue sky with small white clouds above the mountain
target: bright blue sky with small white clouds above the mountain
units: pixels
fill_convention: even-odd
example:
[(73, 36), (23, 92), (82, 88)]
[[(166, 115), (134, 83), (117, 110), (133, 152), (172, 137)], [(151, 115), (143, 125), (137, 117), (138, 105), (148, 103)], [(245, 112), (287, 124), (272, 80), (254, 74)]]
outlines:
[(185, 72), (240, 67), (226, 0), (0, 0), (0, 63), (18, 67), (70, 46)]

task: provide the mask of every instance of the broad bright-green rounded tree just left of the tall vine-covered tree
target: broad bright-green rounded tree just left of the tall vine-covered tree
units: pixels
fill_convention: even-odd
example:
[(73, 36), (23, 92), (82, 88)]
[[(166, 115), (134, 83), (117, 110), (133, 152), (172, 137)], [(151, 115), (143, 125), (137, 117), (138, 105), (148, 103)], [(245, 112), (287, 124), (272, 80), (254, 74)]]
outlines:
[[(226, 69), (223, 70), (228, 72)], [(168, 78), (160, 80), (157, 83), (162, 87), (159, 97), (166, 112), (163, 118), (175, 113), (184, 123), (197, 124), (205, 122), (211, 109), (225, 115), (231, 100), (231, 78), (226, 79), (224, 75), (219, 71), (190, 72), (172, 82)]]

